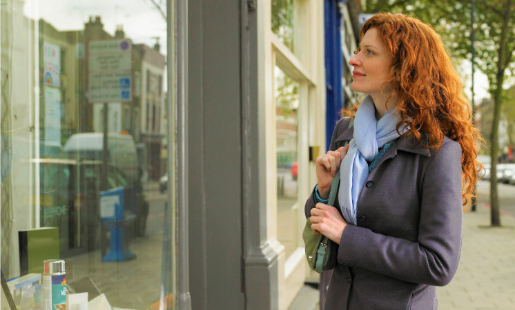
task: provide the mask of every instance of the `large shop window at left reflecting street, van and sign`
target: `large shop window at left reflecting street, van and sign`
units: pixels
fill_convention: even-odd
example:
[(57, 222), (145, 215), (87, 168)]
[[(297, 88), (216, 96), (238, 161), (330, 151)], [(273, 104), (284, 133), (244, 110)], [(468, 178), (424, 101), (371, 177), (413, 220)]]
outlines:
[(1, 1), (7, 279), (60, 258), (68, 293), (172, 307), (165, 12), (164, 0)]

